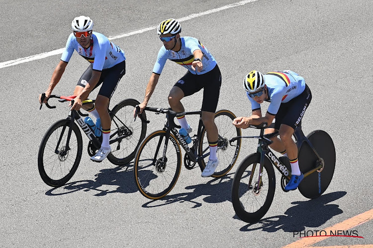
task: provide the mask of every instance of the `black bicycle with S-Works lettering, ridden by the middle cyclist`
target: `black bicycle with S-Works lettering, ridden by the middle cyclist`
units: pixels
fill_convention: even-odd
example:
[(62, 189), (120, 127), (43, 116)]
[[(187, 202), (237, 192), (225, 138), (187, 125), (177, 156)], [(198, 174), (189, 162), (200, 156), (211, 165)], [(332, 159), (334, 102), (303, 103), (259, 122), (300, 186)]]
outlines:
[[(137, 107), (137, 112), (140, 110)], [(149, 134), (137, 149), (134, 162), (134, 177), (136, 186), (142, 195), (149, 199), (160, 199), (166, 196), (176, 185), (182, 167), (180, 144), (185, 150), (184, 166), (191, 170), (198, 163), (201, 171), (208, 161), (210, 154), (206, 129), (202, 123), (202, 111), (176, 113), (171, 109), (146, 107), (143, 111), (156, 114), (166, 114), (166, 123), (162, 130)], [(191, 137), (192, 145), (188, 146), (184, 137), (179, 134), (174, 118), (183, 115), (199, 115), (197, 134)], [(241, 140), (237, 140), (234, 149), (228, 146), (230, 137), (241, 135), (241, 129), (231, 123), (236, 116), (228, 110), (215, 113), (215, 123), (218, 126), (217, 157), (219, 165), (212, 177), (219, 178), (226, 175), (236, 163), (241, 148)], [(148, 120), (140, 116), (142, 122)], [(169, 145), (171, 141), (172, 145)], [(161, 150), (163, 149), (163, 151)]]

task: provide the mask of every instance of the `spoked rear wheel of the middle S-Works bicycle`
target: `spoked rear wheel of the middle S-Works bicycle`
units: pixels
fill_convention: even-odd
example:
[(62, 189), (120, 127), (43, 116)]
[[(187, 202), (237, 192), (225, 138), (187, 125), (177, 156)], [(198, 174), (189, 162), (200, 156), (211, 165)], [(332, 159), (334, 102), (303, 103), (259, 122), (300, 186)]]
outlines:
[[(220, 178), (226, 175), (234, 166), (237, 161), (238, 154), (241, 149), (241, 139), (238, 139), (235, 146), (229, 145), (229, 139), (240, 136), (241, 129), (236, 128), (232, 122), (236, 116), (229, 110), (219, 110), (215, 113), (215, 124), (218, 128), (218, 148), (216, 156), (219, 159), (219, 165), (217, 166), (215, 173), (212, 175), (214, 178)], [(199, 156), (205, 152), (209, 152), (208, 140), (206, 136), (206, 128), (203, 126), (201, 139), (198, 145)], [(203, 170), (208, 162), (208, 156), (201, 160), (200, 166)]]

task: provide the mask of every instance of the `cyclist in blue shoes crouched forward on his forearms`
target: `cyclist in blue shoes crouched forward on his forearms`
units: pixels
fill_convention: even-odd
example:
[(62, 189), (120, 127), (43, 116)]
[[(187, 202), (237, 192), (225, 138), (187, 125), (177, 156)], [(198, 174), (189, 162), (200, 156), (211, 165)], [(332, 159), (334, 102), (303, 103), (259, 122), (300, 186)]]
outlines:
[[(265, 133), (279, 130), (280, 139), (274, 137), (270, 146), (280, 152), (281, 162), (291, 167), (291, 179), (285, 186), (286, 190), (294, 190), (303, 179), (298, 165), (298, 149), (292, 139), (292, 134), (300, 124), (304, 112), (309, 106), (312, 94), (304, 78), (291, 71), (273, 71), (265, 75), (253, 70), (244, 78), (244, 89), (251, 102), (253, 111), (251, 117), (238, 117), (233, 120), (236, 127), (247, 128), (250, 124), (259, 125), (263, 122), (272, 123), (276, 116), (275, 128), (267, 128)], [(260, 104), (270, 102), (267, 113), (262, 117)]]

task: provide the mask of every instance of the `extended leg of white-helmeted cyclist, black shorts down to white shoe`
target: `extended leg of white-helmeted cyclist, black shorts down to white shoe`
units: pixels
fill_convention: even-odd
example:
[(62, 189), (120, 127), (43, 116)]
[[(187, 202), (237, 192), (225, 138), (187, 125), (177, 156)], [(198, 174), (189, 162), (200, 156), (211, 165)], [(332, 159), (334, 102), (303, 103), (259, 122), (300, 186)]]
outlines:
[(102, 86), (96, 97), (96, 110), (101, 119), (102, 127), (102, 143), (101, 148), (97, 151), (96, 155), (91, 157), (94, 161), (102, 161), (110, 152), (110, 126), (111, 119), (108, 112), (110, 98), (112, 97), (120, 79), (125, 74), (125, 61), (120, 62), (109, 69), (105, 69), (101, 73), (100, 81)]

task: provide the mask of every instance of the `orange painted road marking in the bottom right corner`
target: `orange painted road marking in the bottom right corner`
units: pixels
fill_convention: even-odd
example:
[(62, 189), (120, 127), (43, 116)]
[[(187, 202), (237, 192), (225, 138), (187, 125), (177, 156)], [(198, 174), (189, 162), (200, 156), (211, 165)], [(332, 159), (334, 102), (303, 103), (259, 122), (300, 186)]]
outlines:
[[(354, 216), (348, 220), (342, 221), (341, 223), (335, 224), (332, 227), (329, 227), (327, 229), (324, 229), (326, 233), (330, 233), (331, 231), (335, 230), (349, 230), (351, 228), (354, 228), (356, 226), (359, 226), (363, 223), (366, 223), (368, 221), (373, 220), (373, 209), (364, 212), (362, 214), (359, 214), (357, 216)], [(310, 247), (311, 245), (318, 243), (320, 241), (323, 241), (327, 238), (330, 237), (308, 237), (306, 239), (300, 239), (298, 241), (295, 241), (287, 246), (284, 246), (283, 248), (301, 248), (301, 247)], [(337, 248), (368, 248), (368, 247), (373, 247), (373, 245), (357, 245), (357, 246), (332, 246), (332, 247), (337, 247)], [(320, 248), (320, 247), (317, 247)], [(331, 247), (323, 247), (323, 248), (331, 248)]]

